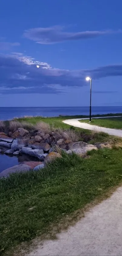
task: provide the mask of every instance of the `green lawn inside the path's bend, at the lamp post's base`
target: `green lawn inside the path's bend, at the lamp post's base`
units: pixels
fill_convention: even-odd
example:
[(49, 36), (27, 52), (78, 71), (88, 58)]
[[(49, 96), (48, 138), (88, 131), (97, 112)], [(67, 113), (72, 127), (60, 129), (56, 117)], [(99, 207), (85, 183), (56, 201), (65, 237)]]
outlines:
[(101, 127), (122, 129), (122, 117), (93, 118), (91, 119), (91, 122), (89, 122), (89, 120), (80, 120), (80, 122), (98, 125)]

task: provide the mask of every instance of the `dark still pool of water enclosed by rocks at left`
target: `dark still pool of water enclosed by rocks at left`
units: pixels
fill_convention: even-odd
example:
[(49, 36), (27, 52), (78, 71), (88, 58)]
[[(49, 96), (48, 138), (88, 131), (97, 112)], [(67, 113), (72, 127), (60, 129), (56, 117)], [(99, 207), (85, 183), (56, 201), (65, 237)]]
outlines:
[[(8, 150), (8, 148), (6, 148), (6, 150)], [(14, 156), (13, 154), (6, 155), (0, 153), (0, 172), (14, 165), (21, 164), (24, 161), (39, 161), (39, 159), (26, 154)]]

